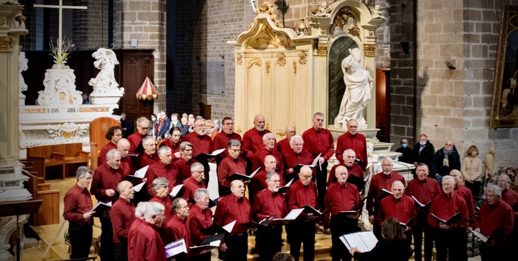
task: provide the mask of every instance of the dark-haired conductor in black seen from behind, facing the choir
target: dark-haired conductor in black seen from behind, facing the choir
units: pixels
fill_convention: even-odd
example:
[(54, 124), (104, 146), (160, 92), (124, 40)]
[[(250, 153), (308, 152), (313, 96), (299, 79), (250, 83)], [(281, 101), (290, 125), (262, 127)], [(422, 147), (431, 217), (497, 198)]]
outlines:
[(357, 261), (408, 261), (413, 252), (408, 244), (403, 228), (396, 218), (387, 218), (381, 227), (382, 240), (369, 252), (360, 253), (351, 248), (349, 253)]

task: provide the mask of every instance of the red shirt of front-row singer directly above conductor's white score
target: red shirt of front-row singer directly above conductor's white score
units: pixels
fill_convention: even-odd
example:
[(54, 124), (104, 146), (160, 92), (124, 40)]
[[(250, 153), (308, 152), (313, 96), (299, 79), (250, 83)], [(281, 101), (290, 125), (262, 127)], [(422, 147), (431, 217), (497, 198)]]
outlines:
[(328, 211), (323, 213), (324, 228), (329, 228), (329, 213), (332, 216), (340, 211), (356, 211), (360, 204), (358, 188), (351, 183), (333, 183), (327, 188), (324, 198), (324, 206), (331, 204)]

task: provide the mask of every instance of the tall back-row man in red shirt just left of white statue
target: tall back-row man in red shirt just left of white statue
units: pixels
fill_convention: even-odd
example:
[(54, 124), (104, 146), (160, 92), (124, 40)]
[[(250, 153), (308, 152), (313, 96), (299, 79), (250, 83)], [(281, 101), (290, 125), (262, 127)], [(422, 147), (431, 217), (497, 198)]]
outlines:
[(333, 135), (324, 126), (324, 114), (317, 112), (313, 115), (313, 127), (306, 130), (302, 137), (304, 139), (304, 149), (309, 151), (313, 158), (320, 154), (319, 164), (316, 169), (316, 188), (319, 193), (319, 205), (324, 205), (327, 180), (327, 161), (335, 152)]

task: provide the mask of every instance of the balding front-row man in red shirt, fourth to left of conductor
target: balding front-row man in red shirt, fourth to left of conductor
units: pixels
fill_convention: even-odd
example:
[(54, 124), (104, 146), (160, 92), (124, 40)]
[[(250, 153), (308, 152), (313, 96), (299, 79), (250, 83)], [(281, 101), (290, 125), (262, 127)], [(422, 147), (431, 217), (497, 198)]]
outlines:
[(250, 202), (244, 197), (245, 187), (241, 180), (234, 180), (230, 185), (232, 194), (218, 201), (214, 213), (214, 223), (224, 226), (236, 220), (231, 233), (225, 233), (220, 250), (224, 260), (246, 261), (248, 253), (248, 224), (250, 222)]

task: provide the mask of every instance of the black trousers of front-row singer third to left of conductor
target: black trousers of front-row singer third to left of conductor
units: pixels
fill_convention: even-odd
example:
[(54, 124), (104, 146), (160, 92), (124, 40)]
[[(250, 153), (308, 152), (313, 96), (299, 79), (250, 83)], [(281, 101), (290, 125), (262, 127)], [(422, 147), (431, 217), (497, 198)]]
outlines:
[(259, 261), (271, 261), (281, 251), (282, 226), (261, 226), (255, 232)]

